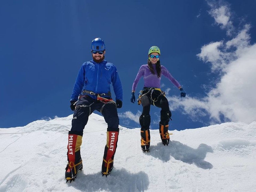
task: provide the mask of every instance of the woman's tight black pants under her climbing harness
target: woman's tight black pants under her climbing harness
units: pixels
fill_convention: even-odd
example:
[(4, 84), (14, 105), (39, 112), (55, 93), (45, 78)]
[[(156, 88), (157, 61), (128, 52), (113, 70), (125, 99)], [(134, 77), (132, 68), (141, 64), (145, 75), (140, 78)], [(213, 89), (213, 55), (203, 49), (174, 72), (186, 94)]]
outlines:
[[(142, 94), (147, 93), (148, 90), (144, 90)], [(159, 90), (153, 90), (153, 92), (149, 92), (146, 95), (141, 97), (141, 104), (143, 107), (142, 115), (140, 117), (140, 125), (142, 126), (142, 130), (149, 129), (150, 126), (150, 106), (155, 105), (158, 108), (161, 108), (161, 121), (160, 124), (168, 125), (170, 109), (169, 103), (165, 96), (161, 94)]]

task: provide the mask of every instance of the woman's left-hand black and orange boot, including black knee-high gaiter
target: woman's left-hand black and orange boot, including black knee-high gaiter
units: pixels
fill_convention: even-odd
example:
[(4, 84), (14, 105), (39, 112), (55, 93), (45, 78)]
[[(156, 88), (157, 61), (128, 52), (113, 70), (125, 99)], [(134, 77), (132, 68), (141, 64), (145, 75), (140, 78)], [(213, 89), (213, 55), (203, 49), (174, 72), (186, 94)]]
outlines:
[(143, 152), (149, 152), (150, 146), (150, 115), (141, 114), (139, 117), (139, 124), (141, 125), (140, 136), (141, 136), (141, 149)]

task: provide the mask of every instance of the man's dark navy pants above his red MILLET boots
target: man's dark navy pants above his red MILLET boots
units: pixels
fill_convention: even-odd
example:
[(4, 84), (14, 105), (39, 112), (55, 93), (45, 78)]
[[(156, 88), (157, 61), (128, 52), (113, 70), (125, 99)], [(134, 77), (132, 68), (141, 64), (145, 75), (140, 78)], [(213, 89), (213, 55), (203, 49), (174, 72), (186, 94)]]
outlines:
[(103, 115), (108, 124), (108, 130), (118, 131), (119, 118), (116, 105), (113, 102), (104, 104), (90, 96), (81, 97), (76, 103), (71, 131), (83, 132), (84, 127), (88, 122), (89, 115), (95, 110), (101, 112)]

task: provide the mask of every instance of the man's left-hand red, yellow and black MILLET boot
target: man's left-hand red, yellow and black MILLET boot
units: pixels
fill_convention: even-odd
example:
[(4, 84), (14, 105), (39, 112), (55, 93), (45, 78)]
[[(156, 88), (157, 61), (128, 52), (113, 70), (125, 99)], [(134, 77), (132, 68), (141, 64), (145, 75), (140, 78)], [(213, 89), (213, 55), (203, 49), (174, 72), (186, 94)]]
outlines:
[(69, 131), (68, 143), (68, 164), (66, 166), (65, 178), (68, 181), (74, 181), (79, 170), (82, 171), (83, 163), (80, 155), (80, 146), (82, 145), (83, 133), (77, 131)]

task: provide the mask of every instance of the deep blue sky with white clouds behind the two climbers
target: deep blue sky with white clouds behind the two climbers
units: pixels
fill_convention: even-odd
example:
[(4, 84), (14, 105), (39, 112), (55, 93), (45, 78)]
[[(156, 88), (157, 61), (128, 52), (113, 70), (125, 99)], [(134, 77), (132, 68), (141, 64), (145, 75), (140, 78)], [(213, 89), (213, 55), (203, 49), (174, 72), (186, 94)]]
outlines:
[[(139, 127), (142, 106), (131, 87), (148, 49), (187, 93), (166, 78), (170, 129), (256, 119), (256, 1), (1, 1), (0, 127), (72, 114), (69, 100), (90, 44), (100, 37), (105, 59), (123, 85), (120, 124)], [(136, 93), (143, 87), (140, 80)], [(151, 107), (158, 129), (160, 108)]]

